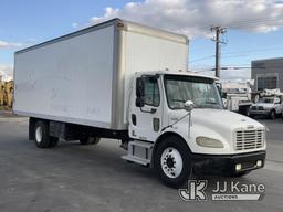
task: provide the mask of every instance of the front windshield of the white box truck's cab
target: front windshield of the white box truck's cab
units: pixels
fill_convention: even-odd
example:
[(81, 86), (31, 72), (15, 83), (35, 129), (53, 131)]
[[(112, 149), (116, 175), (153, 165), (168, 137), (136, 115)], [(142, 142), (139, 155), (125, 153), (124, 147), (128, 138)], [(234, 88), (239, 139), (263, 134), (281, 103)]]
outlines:
[(187, 100), (199, 108), (223, 108), (219, 91), (210, 78), (165, 75), (165, 89), (171, 109), (182, 109)]

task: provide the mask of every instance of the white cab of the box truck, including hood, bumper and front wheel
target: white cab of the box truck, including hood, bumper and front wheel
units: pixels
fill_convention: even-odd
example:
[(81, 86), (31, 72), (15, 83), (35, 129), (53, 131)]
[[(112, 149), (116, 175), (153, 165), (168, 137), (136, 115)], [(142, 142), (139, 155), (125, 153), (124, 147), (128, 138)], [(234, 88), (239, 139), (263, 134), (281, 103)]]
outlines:
[(169, 186), (195, 173), (242, 176), (262, 168), (265, 127), (226, 110), (216, 78), (192, 72), (136, 73), (128, 106), (128, 155)]

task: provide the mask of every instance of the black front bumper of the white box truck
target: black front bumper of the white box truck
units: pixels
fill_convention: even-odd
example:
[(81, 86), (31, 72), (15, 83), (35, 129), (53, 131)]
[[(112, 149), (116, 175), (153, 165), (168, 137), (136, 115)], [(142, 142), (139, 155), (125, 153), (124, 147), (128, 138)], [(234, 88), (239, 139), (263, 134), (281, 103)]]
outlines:
[[(192, 155), (193, 172), (197, 174), (232, 176), (243, 171), (260, 169), (264, 166), (266, 151), (255, 151), (239, 155)], [(261, 160), (262, 166), (256, 166)], [(241, 163), (241, 170), (235, 166)]]

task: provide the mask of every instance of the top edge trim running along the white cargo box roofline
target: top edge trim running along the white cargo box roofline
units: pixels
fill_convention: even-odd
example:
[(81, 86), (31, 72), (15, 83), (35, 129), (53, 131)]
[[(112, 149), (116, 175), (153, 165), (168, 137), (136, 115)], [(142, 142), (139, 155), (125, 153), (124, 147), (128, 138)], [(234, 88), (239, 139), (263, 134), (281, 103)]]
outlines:
[(27, 52), (27, 51), (31, 51), (31, 50), (34, 50), (34, 49), (38, 49), (38, 47), (43, 47), (43, 46), (50, 45), (52, 43), (64, 41), (66, 39), (78, 36), (81, 34), (85, 34), (85, 33), (88, 33), (88, 32), (92, 32), (92, 31), (95, 31), (95, 30), (107, 28), (107, 26), (114, 25), (114, 24), (118, 29), (123, 29), (123, 30), (126, 30), (126, 31), (134, 31), (134, 32), (137, 32), (137, 33), (140, 33), (140, 34), (147, 34), (147, 35), (150, 34), (151, 36), (158, 36), (158, 38), (171, 40), (174, 42), (179, 42), (179, 43), (188, 44), (188, 42), (189, 42), (188, 38), (184, 34), (177, 34), (177, 33), (174, 33), (174, 32), (169, 32), (169, 31), (157, 29), (157, 28), (143, 25), (140, 23), (127, 21), (127, 20), (124, 20), (124, 19), (115, 18), (115, 19), (111, 19), (108, 21), (105, 21), (105, 22), (102, 22), (102, 23), (98, 23), (98, 24), (95, 24), (95, 25), (92, 25), (92, 26), (88, 26), (88, 28), (84, 28), (82, 30), (78, 30), (78, 31), (75, 31), (75, 32), (72, 32), (72, 33), (69, 33), (69, 34), (65, 34), (65, 35), (62, 35), (62, 36), (59, 36), (59, 38), (55, 38), (55, 39), (52, 39), (52, 40), (49, 40), (49, 41), (45, 41), (45, 42), (42, 42), (42, 43), (39, 43), (39, 44), (35, 44), (35, 45), (19, 50), (19, 51), (15, 52), (15, 54), (23, 53), (23, 52)]

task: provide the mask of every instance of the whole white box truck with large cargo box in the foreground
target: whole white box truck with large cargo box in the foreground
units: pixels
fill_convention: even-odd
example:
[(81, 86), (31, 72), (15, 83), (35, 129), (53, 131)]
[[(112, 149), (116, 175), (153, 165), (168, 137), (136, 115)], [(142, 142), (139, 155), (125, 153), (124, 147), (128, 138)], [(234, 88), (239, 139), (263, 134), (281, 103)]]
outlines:
[(13, 112), (30, 117), (39, 148), (116, 138), (125, 160), (170, 187), (262, 168), (265, 127), (224, 110), (214, 78), (187, 60), (186, 36), (109, 20), (18, 51)]

